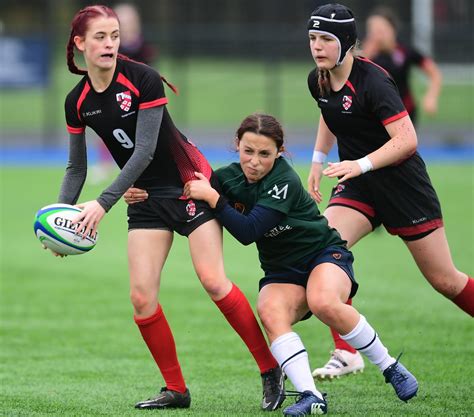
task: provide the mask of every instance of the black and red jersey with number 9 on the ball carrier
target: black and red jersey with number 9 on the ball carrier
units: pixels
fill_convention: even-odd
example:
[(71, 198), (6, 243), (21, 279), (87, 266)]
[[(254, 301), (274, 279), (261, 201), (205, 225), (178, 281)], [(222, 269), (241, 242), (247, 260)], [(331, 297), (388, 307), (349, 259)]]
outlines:
[[(65, 103), (69, 133), (82, 133), (86, 126), (104, 141), (120, 168), (134, 151), (138, 111), (168, 102), (163, 82), (145, 64), (117, 60), (113, 81), (98, 93), (88, 76), (68, 94)], [(211, 167), (199, 150), (175, 127), (167, 109), (150, 165), (135, 182), (137, 187), (182, 187), (194, 172), (210, 177)]]

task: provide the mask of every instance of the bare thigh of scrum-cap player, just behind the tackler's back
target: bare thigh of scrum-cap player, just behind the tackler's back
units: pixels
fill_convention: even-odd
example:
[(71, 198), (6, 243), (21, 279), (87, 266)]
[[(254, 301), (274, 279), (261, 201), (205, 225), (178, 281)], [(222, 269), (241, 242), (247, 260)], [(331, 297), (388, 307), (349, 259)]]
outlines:
[(369, 219), (357, 210), (344, 206), (329, 206), (324, 211), (329, 226), (336, 229), (341, 237), (352, 247), (372, 231)]

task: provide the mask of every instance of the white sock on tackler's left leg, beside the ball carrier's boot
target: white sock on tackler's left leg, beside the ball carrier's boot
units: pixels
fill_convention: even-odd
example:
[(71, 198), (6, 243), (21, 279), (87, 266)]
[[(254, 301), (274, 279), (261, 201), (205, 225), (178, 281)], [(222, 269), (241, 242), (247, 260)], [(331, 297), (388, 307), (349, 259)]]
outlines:
[(311, 368), (309, 367), (308, 353), (295, 332), (279, 336), (271, 344), (270, 350), (283, 372), (295, 386), (296, 391), (311, 391), (319, 398), (323, 398), (323, 395), (314, 384)]

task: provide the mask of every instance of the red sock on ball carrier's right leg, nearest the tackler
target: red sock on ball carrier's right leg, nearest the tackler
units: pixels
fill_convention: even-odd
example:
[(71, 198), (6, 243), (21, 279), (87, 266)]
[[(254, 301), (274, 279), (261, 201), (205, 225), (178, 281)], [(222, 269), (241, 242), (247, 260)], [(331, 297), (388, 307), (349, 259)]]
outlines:
[(263, 374), (276, 368), (278, 362), (270, 352), (252, 308), (242, 291), (235, 284), (232, 284), (229, 294), (222, 300), (215, 301), (215, 303), (247, 345), (260, 368), (260, 372)]

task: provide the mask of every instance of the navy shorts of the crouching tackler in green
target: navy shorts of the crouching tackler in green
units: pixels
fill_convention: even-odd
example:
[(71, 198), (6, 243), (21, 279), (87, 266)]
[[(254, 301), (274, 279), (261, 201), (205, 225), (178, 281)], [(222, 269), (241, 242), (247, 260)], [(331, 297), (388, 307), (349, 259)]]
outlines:
[[(265, 271), (265, 276), (259, 282), (259, 291), (268, 284), (295, 284), (306, 288), (308, 279), (318, 265), (323, 263), (330, 263), (337, 265), (351, 280), (351, 293), (349, 298), (356, 295), (359, 284), (354, 277), (354, 269), (352, 263), (354, 262), (354, 256), (352, 252), (343, 246), (329, 246), (322, 251), (317, 252), (307, 261), (303, 262), (298, 268), (289, 268), (287, 270), (280, 271)], [(302, 320), (310, 318), (311, 312), (308, 312)]]

